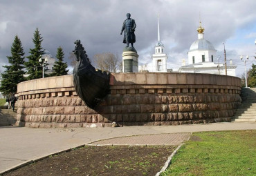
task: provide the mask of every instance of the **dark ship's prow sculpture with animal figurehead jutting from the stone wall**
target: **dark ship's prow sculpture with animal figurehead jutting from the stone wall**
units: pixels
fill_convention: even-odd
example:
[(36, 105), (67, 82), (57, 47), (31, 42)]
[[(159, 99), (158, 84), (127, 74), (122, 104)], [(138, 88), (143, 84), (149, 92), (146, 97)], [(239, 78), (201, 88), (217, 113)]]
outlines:
[(96, 70), (91, 65), (80, 40), (75, 41), (73, 52), (77, 59), (73, 70), (75, 91), (87, 106), (94, 109), (109, 93), (109, 72)]

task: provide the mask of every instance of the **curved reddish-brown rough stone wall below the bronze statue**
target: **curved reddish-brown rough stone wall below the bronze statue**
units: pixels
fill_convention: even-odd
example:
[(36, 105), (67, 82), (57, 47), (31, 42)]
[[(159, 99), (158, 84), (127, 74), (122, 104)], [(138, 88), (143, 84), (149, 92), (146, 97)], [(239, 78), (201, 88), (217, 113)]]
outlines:
[(32, 128), (178, 125), (230, 121), (241, 79), (192, 73), (113, 73), (95, 108), (77, 97), (73, 76), (18, 84), (17, 126)]

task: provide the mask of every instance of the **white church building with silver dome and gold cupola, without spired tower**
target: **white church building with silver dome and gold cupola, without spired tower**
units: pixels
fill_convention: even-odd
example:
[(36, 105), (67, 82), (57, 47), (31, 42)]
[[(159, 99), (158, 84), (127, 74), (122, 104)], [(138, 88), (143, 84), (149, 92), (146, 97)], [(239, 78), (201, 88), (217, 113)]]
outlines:
[[(219, 63), (219, 58), (216, 57), (216, 50), (210, 41), (203, 37), (204, 28), (197, 28), (198, 39), (192, 43), (188, 51), (188, 65), (183, 64), (179, 68), (179, 72), (194, 72), (194, 73), (210, 73), (225, 75), (225, 66)], [(214, 62), (215, 61), (215, 62)], [(217, 62), (216, 62), (217, 61)], [(227, 75), (235, 76), (235, 68), (230, 62), (227, 66)]]

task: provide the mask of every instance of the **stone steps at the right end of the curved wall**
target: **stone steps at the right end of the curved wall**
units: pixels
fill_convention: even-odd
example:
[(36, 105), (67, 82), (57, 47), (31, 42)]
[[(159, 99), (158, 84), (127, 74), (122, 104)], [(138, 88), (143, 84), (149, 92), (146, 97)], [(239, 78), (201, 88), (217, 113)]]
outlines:
[(242, 103), (231, 121), (256, 121), (256, 88), (243, 88), (241, 90)]

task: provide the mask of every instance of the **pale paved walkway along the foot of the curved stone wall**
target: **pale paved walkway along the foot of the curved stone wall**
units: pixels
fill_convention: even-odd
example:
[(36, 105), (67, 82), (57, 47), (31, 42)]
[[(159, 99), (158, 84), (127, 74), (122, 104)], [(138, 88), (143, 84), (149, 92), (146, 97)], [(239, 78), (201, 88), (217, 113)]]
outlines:
[[(179, 135), (166, 134), (191, 133), (210, 130), (256, 130), (256, 123), (217, 123), (198, 124), (183, 126), (129, 126), (119, 128), (20, 128), (20, 127), (0, 127), (0, 173), (8, 168), (57, 153), (68, 148), (73, 148), (83, 144), (93, 143), (100, 139), (122, 137), (120, 140), (109, 139), (109, 144), (134, 144), (129, 136), (135, 137), (136, 144), (171, 144), (181, 142), (175, 138)], [(159, 135), (163, 134), (163, 135)], [(146, 138), (145, 138), (146, 137)], [(173, 139), (171, 139), (174, 137)], [(187, 136), (185, 136), (187, 137)], [(184, 139), (185, 139), (184, 137)], [(151, 138), (148, 142), (147, 139)], [(125, 141), (127, 139), (127, 141)], [(140, 140), (141, 139), (141, 140)], [(163, 139), (163, 141), (161, 141)], [(107, 140), (105, 140), (107, 141)], [(102, 142), (105, 142), (102, 141)], [(111, 142), (110, 142), (111, 141)], [(113, 142), (113, 141), (116, 141)], [(179, 141), (179, 142), (178, 142)], [(144, 143), (143, 143), (144, 142)]]

